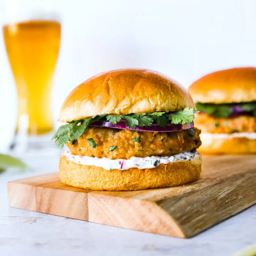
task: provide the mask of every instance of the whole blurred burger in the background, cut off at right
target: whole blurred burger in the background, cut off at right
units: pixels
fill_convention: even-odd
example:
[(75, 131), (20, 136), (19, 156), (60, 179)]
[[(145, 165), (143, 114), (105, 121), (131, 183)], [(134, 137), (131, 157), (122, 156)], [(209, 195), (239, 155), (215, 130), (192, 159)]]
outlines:
[(202, 130), (200, 153), (256, 153), (256, 68), (232, 68), (210, 73), (188, 89)]

